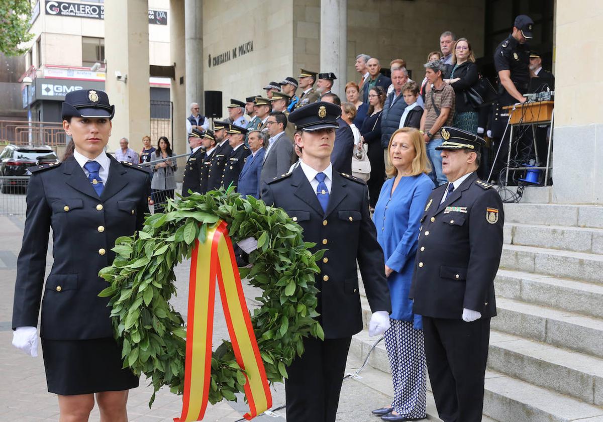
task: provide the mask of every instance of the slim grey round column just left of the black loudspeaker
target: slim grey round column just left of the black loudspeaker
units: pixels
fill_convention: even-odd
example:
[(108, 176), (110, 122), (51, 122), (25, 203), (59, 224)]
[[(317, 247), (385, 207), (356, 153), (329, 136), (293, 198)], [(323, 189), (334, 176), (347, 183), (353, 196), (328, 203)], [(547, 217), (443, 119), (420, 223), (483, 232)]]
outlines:
[(186, 52), (186, 107), (187, 116), (191, 102), (198, 102), (201, 114), (203, 104), (203, 2), (185, 2), (185, 52)]

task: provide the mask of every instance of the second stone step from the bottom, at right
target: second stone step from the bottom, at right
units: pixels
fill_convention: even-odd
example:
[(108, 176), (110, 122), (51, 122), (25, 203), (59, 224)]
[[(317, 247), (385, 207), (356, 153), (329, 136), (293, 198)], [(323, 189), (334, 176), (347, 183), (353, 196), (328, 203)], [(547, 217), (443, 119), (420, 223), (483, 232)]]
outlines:
[(603, 406), (603, 359), (496, 331), (488, 368)]

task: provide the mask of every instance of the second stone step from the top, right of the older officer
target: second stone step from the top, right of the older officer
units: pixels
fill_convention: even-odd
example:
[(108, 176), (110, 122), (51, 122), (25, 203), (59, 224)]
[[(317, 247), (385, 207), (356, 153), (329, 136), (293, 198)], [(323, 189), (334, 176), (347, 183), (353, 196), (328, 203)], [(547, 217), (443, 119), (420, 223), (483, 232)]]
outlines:
[(505, 244), (603, 253), (603, 228), (505, 222)]

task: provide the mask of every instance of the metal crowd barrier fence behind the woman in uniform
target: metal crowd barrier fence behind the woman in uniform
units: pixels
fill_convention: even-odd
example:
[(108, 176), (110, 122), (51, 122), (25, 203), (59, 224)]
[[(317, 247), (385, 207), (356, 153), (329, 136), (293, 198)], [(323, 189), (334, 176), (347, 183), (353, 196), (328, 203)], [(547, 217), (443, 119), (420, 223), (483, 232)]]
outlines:
[[(151, 213), (162, 212), (167, 198), (174, 198), (175, 194), (182, 193), (182, 170), (185, 169), (188, 157), (189, 154), (178, 154), (168, 159), (141, 164), (153, 174), (151, 187), (154, 189), (149, 203)], [(171, 171), (163, 171), (165, 167), (160, 164), (168, 161), (171, 165), (166, 166), (169, 166)], [(156, 165), (159, 166), (155, 168)], [(29, 181), (29, 176), (0, 176), (0, 216), (25, 216), (25, 195)]]

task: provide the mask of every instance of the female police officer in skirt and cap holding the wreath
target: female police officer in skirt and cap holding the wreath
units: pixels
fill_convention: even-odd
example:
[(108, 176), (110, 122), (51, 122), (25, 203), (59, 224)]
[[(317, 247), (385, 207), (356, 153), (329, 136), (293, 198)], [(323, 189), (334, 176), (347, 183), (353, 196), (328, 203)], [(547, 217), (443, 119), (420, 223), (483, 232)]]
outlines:
[[(106, 93), (70, 92), (63, 128), (75, 143), (63, 163), (31, 168), (27, 218), (13, 307), (13, 345), (37, 356), (37, 321), (48, 391), (58, 394), (61, 421), (87, 421), (98, 402), (101, 421), (127, 421), (128, 389), (138, 386), (122, 369), (113, 339), (107, 283), (99, 269), (110, 265), (115, 239), (142, 228), (150, 180), (144, 169), (104, 153), (114, 106)], [(54, 263), (44, 286), (48, 233)]]

